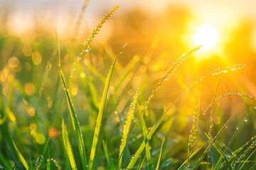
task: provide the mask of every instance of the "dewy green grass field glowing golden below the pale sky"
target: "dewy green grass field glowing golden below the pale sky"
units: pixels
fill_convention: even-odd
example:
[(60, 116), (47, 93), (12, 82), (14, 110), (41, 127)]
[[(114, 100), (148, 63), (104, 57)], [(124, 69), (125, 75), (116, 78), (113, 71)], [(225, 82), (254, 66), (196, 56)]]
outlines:
[(84, 35), (86, 6), (68, 38), (2, 26), (0, 169), (256, 169), (255, 55), (199, 61), (211, 44), (175, 42), (168, 23), (143, 32), (119, 5)]

